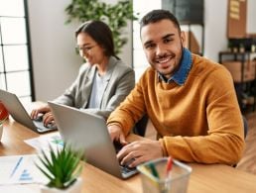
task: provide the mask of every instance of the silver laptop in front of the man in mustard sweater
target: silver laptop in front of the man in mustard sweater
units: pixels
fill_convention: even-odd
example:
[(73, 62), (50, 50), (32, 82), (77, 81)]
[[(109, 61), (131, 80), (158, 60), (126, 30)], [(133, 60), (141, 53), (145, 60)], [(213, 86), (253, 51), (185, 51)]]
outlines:
[(102, 117), (78, 109), (48, 102), (64, 142), (84, 150), (86, 162), (121, 179), (138, 173), (136, 168), (121, 166)]

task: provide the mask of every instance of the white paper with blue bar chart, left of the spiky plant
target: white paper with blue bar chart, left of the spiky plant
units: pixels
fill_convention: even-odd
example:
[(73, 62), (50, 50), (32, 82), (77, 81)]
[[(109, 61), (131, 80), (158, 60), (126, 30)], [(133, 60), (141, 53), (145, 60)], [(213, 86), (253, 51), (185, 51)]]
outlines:
[(0, 156), (0, 185), (47, 183), (47, 178), (35, 165), (38, 160), (36, 154)]

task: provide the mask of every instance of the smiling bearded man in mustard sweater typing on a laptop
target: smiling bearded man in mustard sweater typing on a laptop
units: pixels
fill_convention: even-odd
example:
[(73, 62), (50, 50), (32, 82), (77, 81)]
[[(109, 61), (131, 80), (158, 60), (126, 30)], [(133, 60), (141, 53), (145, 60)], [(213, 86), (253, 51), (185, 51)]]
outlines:
[[(169, 11), (144, 16), (140, 35), (151, 67), (107, 121), (111, 139), (125, 145), (117, 154), (121, 164), (133, 160), (133, 167), (167, 155), (186, 162), (237, 163), (244, 134), (229, 72), (184, 48), (185, 34)], [(125, 136), (144, 114), (158, 141), (128, 144)]]

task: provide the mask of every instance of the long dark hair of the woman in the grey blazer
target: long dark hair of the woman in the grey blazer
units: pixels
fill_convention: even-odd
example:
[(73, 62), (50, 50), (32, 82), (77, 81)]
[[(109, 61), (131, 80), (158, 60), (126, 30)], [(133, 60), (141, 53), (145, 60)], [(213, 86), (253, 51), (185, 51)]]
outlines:
[(89, 35), (100, 47), (104, 48), (107, 56), (115, 56), (114, 41), (112, 32), (109, 27), (101, 21), (87, 21), (81, 24), (75, 31), (75, 38), (78, 34), (86, 33)]

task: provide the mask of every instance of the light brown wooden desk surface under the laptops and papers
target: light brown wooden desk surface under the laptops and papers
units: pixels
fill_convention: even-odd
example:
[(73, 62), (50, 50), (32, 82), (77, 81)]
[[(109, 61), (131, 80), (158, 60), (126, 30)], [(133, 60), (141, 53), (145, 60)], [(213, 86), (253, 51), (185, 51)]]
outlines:
[[(0, 144), (0, 155), (31, 154), (36, 153), (36, 149), (24, 143), (24, 140), (39, 137), (38, 134), (26, 127), (9, 120), (4, 125), (4, 132)], [(138, 139), (131, 135), (129, 141)], [(256, 176), (237, 170), (233, 167), (212, 164), (190, 164), (192, 175), (189, 184), (189, 193), (249, 193), (256, 192)], [(128, 180), (118, 179), (96, 167), (84, 163), (82, 192), (142, 192), (140, 175), (136, 175)], [(6, 187), (0, 186), (0, 192), (4, 192)], [(19, 192), (39, 192), (39, 185), (17, 185), (8, 186), (8, 190), (14, 188)], [(7, 189), (7, 188), (6, 188)]]

